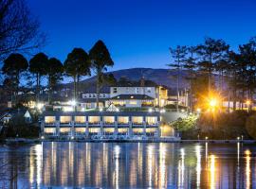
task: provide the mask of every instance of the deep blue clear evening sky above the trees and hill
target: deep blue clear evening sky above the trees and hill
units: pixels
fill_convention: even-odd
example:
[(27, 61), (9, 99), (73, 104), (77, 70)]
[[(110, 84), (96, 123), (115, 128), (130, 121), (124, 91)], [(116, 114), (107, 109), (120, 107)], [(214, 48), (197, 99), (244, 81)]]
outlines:
[(256, 35), (255, 0), (27, 0), (39, 16), (50, 57), (64, 60), (74, 47), (86, 51), (103, 40), (111, 70), (166, 68), (169, 46), (194, 45), (206, 36), (232, 48)]

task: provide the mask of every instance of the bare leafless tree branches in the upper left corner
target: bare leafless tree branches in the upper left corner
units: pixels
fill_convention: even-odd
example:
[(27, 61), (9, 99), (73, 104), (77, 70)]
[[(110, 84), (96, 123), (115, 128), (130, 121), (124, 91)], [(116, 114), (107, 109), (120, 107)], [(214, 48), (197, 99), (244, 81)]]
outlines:
[(46, 35), (32, 17), (25, 0), (0, 1), (0, 60), (10, 53), (27, 52), (44, 44)]

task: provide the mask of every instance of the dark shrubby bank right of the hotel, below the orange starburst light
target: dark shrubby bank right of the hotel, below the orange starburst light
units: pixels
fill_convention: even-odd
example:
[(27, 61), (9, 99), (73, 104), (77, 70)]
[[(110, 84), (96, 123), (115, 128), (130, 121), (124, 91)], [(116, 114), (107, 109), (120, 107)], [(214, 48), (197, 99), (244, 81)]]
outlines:
[(178, 119), (172, 126), (181, 132), (182, 139), (256, 139), (256, 112), (206, 112)]

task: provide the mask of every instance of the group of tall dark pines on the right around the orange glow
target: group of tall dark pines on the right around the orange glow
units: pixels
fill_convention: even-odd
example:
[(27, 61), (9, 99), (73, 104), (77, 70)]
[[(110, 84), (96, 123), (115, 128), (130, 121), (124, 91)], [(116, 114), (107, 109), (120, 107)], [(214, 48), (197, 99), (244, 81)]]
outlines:
[(203, 104), (202, 96), (212, 94), (219, 94), (222, 100), (232, 102), (229, 108), (234, 110), (238, 108), (237, 102), (240, 102), (239, 108), (243, 108), (246, 100), (253, 102), (256, 89), (256, 38), (239, 45), (237, 51), (230, 50), (229, 44), (223, 40), (206, 38), (204, 43), (195, 46), (177, 45), (170, 48), (170, 52), (173, 62), (168, 65), (177, 70), (177, 101), (180, 70), (189, 73), (191, 110)]

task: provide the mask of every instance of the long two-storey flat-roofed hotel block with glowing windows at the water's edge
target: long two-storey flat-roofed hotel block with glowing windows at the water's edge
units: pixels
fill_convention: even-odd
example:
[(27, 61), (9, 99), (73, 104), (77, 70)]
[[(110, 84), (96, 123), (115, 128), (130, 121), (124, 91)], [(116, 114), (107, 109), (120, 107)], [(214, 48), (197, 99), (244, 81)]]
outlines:
[(159, 112), (45, 112), (46, 138), (159, 137)]

